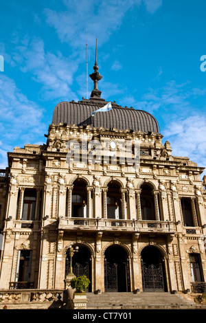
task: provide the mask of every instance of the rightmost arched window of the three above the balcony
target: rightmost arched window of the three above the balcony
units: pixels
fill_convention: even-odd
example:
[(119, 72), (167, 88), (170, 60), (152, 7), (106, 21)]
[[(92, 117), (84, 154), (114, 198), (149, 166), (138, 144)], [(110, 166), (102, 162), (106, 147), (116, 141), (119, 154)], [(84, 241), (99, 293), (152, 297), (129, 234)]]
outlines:
[(150, 186), (146, 184), (143, 184), (141, 186), (140, 203), (141, 203), (141, 219), (154, 221), (155, 220), (154, 197), (152, 195), (152, 188), (150, 188)]

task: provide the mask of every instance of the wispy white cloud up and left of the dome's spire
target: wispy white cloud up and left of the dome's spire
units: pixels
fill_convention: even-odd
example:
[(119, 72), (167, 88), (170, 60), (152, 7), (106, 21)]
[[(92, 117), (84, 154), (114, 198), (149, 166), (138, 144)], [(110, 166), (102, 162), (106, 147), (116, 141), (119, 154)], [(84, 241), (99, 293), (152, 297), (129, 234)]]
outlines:
[(21, 71), (32, 74), (33, 80), (42, 85), (44, 98), (68, 98), (75, 95), (71, 91), (73, 74), (78, 69), (79, 59), (65, 58), (60, 52), (45, 51), (41, 38), (34, 38), (16, 47), (14, 60)]

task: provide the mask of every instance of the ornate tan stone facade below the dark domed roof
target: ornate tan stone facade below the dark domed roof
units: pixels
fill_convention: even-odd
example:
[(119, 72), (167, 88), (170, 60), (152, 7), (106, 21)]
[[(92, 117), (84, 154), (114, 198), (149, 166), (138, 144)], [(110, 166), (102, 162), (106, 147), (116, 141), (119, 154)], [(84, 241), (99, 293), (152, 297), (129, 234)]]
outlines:
[[(102, 159), (84, 163), (81, 158), (69, 163), (67, 142), (81, 142), (82, 137), (88, 145), (94, 137), (116, 141), (117, 164), (104, 164)], [(119, 164), (119, 139), (140, 145), (140, 165), (133, 171), (129, 163)], [(150, 263), (150, 252), (144, 252), (148, 247), (157, 252), (152, 253), (156, 267), (163, 266), (164, 291), (192, 291), (192, 282), (204, 282), (203, 168), (187, 157), (172, 156), (170, 144), (161, 140), (159, 133), (51, 124), (47, 145), (27, 144), (8, 153), (9, 168), (1, 174), (0, 288), (13, 288), (22, 279), (34, 289), (63, 289), (71, 243), (87, 248), (90, 291), (108, 288), (106, 280), (112, 274), (105, 276), (106, 265), (111, 270), (114, 252), (120, 257), (117, 270), (126, 278), (124, 285), (117, 282), (109, 288), (144, 291), (142, 259)], [(84, 153), (80, 146), (76, 149)], [(75, 203), (78, 193), (84, 201)], [(147, 219), (144, 212), (150, 212), (150, 206), (142, 204), (149, 194), (154, 214)], [(113, 213), (108, 197), (117, 197), (119, 214)], [(192, 219), (190, 210), (184, 214), (183, 199), (191, 203)], [(194, 277), (192, 256), (198, 259), (194, 261), (201, 278)], [(74, 261), (85, 267), (77, 255)]]

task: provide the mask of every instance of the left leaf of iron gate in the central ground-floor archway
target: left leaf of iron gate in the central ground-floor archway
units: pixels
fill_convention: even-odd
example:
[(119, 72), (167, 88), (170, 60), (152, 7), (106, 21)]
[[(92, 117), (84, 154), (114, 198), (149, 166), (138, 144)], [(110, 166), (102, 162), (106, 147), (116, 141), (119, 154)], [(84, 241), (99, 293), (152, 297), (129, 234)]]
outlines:
[(117, 264), (110, 267), (104, 260), (104, 289), (105, 291), (118, 291), (117, 285)]

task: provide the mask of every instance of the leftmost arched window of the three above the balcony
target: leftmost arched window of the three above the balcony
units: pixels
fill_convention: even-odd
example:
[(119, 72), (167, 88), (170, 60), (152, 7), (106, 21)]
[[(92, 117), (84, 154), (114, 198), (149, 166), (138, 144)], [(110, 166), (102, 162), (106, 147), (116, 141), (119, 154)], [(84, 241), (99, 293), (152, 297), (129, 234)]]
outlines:
[(81, 179), (73, 182), (71, 197), (71, 216), (75, 218), (87, 217), (87, 183)]

